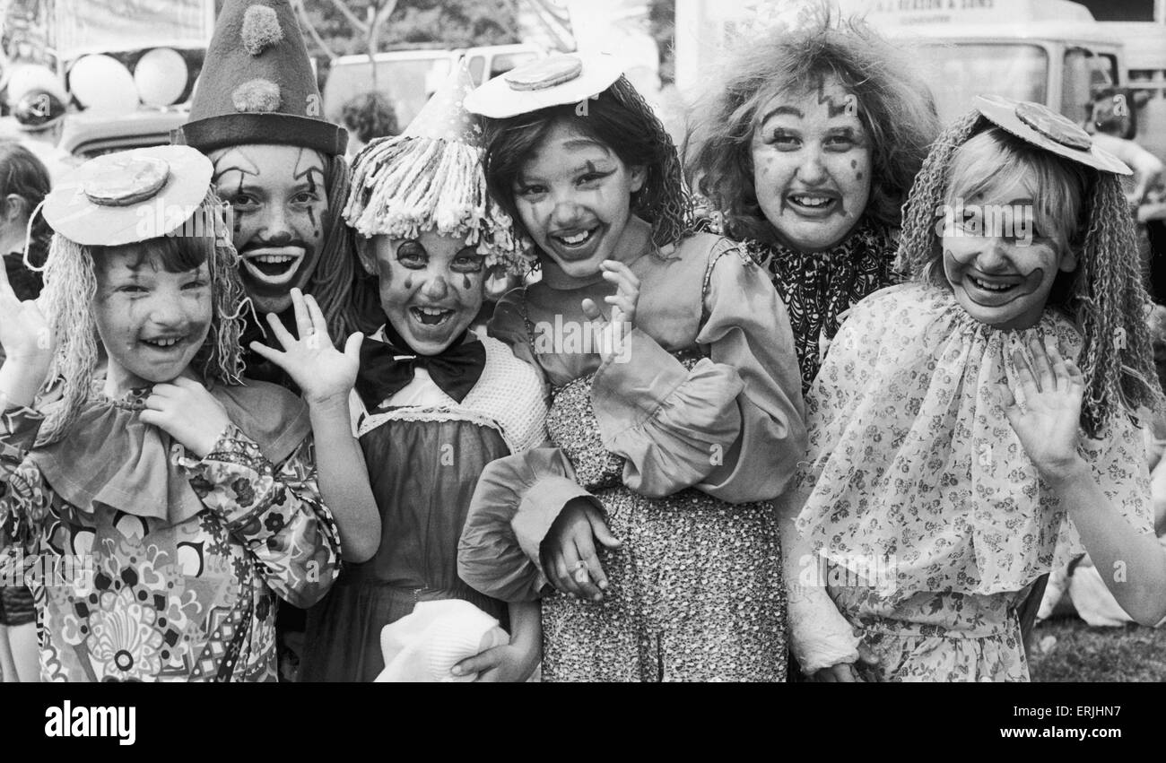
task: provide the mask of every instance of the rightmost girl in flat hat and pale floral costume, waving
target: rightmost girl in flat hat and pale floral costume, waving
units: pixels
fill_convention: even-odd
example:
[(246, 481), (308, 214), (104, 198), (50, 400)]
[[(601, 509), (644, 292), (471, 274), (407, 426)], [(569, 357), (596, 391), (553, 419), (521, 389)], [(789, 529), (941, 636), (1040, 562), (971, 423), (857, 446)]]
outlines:
[(1082, 551), (1123, 571), (1105, 584), (1135, 620), (1166, 615), (1135, 418), (1163, 400), (1117, 174), (1037, 104), (977, 99), (936, 141), (904, 216), (912, 282), (854, 308), (807, 396), (784, 500), (807, 672), (852, 680), (862, 655), (874, 680), (1028, 680), (1018, 609)]

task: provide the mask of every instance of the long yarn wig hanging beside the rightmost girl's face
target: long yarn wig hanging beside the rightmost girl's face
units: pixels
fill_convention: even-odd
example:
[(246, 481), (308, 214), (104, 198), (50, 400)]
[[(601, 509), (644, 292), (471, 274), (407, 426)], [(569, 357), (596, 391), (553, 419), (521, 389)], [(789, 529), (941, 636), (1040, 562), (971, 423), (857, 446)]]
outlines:
[[(956, 151), (992, 127), (974, 111), (936, 139), (904, 209), (895, 261), (900, 271), (918, 281), (947, 283), (937, 264), (942, 259), (937, 210), (948, 198)], [(1081, 331), (1077, 366), (1086, 380), (1081, 428), (1097, 437), (1114, 416), (1132, 418), (1143, 407), (1156, 411), (1164, 401), (1146, 320), (1150, 296), (1142, 283), (1129, 204), (1116, 175), (1083, 165), (1081, 170), (1087, 188), (1070, 238), (1077, 267), (1059, 275), (1049, 305), (1062, 310)]]

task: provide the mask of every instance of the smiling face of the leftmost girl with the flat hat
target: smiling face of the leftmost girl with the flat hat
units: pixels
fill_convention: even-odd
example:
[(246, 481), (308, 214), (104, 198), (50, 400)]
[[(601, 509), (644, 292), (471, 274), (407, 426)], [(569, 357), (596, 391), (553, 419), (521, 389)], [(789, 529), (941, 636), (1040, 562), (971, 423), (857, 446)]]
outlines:
[(211, 326), (205, 262), (168, 271), (156, 253), (122, 247), (94, 263), (93, 317), (119, 389), (169, 382), (182, 375)]

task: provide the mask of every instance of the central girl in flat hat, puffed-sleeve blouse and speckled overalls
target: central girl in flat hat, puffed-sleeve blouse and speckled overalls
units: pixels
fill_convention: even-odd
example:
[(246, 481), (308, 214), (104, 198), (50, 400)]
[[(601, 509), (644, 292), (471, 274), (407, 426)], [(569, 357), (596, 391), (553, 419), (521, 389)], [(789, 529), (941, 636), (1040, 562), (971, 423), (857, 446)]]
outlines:
[(742, 247), (689, 233), (675, 147), (610, 57), (471, 98), (490, 188), (542, 268), (490, 331), (546, 379), (554, 447), (486, 467), (462, 578), (546, 594), (548, 680), (781, 680), (767, 501), (805, 452), (781, 301)]

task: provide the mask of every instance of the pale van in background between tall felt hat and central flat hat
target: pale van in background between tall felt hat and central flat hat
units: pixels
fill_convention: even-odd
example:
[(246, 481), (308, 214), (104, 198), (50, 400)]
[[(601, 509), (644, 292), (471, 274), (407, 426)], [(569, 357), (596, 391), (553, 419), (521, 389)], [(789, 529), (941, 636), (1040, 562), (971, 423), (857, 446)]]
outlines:
[(465, 56), (476, 85), (515, 66), (541, 58), (536, 45), (490, 45), (457, 50), (396, 50), (377, 54), (375, 83), (368, 56), (340, 56), (332, 62), (324, 83), (324, 115), (344, 123), (344, 105), (361, 93), (375, 90), (386, 94), (396, 112), (396, 123), (408, 125), (429, 96), (444, 80), (457, 61)]

